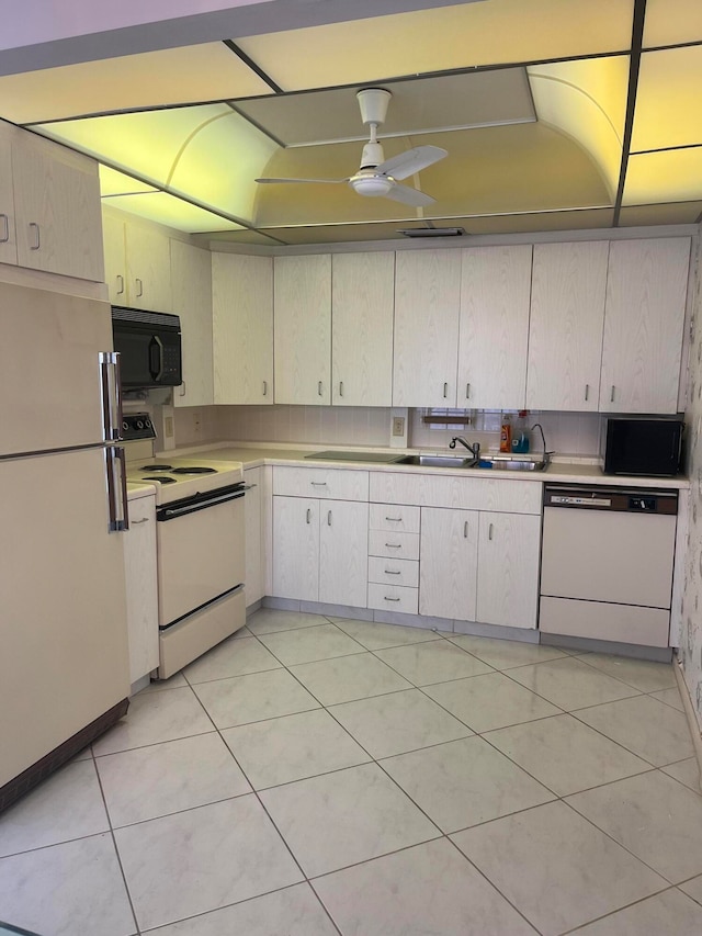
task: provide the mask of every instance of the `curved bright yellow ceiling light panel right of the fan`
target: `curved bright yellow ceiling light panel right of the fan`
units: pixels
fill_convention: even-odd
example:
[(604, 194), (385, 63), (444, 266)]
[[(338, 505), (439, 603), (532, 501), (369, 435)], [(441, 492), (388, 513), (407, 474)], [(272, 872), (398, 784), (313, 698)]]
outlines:
[(590, 154), (613, 200), (622, 160), (629, 57), (537, 65), (528, 74), (539, 120)]

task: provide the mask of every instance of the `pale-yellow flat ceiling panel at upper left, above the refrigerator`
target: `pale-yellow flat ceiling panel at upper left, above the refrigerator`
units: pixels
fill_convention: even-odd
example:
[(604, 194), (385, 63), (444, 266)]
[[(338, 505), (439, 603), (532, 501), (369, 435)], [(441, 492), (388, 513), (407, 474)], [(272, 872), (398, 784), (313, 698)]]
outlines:
[(24, 124), (270, 90), (224, 43), (207, 43), (4, 76), (0, 114)]

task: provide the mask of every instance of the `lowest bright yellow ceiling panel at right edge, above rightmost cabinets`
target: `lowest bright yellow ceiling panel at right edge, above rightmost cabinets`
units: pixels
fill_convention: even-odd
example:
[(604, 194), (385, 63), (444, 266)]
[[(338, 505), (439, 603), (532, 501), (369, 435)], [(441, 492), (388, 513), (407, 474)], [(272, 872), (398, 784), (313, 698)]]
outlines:
[(702, 199), (702, 146), (629, 157), (623, 204)]

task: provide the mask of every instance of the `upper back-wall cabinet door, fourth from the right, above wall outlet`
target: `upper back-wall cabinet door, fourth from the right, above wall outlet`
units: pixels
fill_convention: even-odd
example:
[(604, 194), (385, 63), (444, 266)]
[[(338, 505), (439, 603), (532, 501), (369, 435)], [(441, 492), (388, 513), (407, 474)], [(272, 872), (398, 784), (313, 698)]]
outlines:
[(461, 251), (398, 250), (394, 406), (456, 405)]

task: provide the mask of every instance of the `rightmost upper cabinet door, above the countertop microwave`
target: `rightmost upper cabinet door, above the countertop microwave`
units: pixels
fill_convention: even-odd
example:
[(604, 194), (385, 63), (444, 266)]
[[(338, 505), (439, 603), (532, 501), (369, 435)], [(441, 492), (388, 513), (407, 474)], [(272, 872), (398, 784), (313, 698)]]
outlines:
[(676, 413), (690, 238), (610, 245), (602, 413)]

